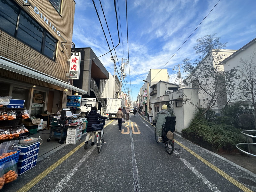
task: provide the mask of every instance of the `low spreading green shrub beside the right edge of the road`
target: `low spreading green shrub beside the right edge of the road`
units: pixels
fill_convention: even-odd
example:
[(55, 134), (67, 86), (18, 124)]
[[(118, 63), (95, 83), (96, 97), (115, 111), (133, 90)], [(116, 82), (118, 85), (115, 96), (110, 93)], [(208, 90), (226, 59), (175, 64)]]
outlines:
[(190, 126), (182, 131), (183, 137), (212, 151), (232, 150), (237, 143), (246, 142), (240, 131), (226, 124), (207, 122), (200, 114), (196, 114)]

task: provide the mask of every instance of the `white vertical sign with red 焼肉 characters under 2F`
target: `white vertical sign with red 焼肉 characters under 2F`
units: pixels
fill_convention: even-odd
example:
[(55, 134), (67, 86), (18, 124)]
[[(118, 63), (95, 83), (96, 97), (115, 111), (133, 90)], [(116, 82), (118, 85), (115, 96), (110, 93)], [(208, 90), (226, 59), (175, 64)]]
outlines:
[(79, 79), (80, 75), (80, 62), (81, 53), (71, 52), (70, 66), (69, 66), (69, 79)]

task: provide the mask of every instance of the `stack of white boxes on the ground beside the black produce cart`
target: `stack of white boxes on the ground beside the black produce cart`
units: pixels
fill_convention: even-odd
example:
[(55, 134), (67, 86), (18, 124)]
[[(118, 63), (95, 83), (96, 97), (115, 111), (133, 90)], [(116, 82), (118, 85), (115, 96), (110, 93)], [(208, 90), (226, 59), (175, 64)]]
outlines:
[(68, 126), (66, 144), (76, 144), (82, 139), (83, 124), (76, 126)]

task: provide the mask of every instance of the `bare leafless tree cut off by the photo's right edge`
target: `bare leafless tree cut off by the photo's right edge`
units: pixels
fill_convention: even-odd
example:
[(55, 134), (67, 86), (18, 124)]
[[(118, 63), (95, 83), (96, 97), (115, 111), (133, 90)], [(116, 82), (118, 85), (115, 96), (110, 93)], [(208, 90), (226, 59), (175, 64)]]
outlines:
[(256, 63), (255, 63), (256, 51), (252, 52), (251, 56), (248, 56), (249, 59), (240, 59), (242, 63), (241, 67), (238, 67), (239, 72), (241, 73), (240, 78), (240, 89), (238, 89), (239, 99), (247, 99), (252, 102), (254, 109), (254, 128), (256, 129)]

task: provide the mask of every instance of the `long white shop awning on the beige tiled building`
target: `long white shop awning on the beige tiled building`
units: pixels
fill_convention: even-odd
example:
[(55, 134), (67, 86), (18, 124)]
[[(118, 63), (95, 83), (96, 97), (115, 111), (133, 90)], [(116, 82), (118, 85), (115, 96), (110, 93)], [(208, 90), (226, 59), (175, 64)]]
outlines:
[(72, 86), (70, 83), (67, 83), (55, 77), (49, 76), (45, 73), (29, 68), (25, 65), (9, 60), (2, 56), (0, 56), (0, 68), (3, 68), (8, 71), (12, 71), (14, 73), (19, 73), (21, 75), (28, 76), (34, 79), (38, 79), (40, 81), (44, 81), (50, 84), (58, 85), (65, 89), (71, 89), (73, 91), (77, 91), (82, 94), (87, 94), (87, 91), (84, 91), (83, 89), (79, 89), (75, 86)]

